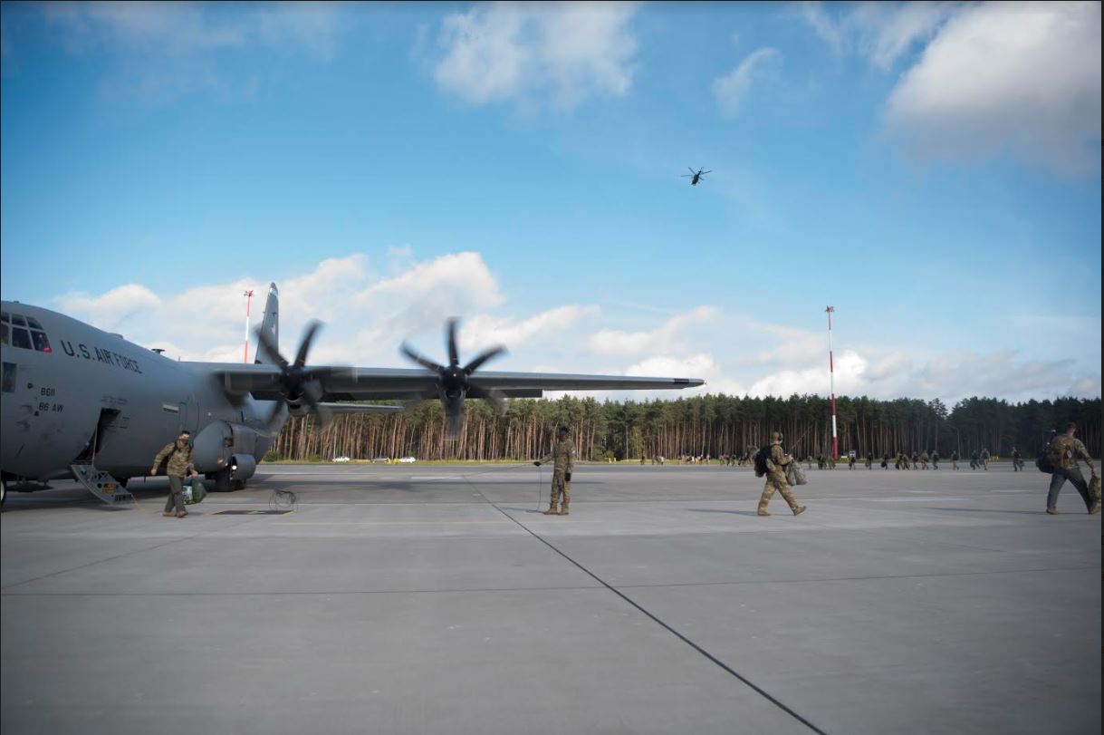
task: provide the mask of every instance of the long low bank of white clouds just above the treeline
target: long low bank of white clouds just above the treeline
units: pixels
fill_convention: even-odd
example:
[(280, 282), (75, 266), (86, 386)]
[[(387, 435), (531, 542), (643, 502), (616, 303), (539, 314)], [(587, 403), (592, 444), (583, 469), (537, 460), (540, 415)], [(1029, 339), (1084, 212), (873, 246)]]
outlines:
[[(675, 314), (650, 329), (630, 329), (593, 305), (566, 304), (535, 314), (518, 313), (506, 303), (499, 284), (479, 253), (461, 252), (412, 262), (381, 275), (364, 253), (321, 261), (308, 273), (282, 280), (280, 345), (295, 351), (306, 322), (321, 317), (327, 328), (315, 343), (312, 364), (402, 366), (404, 340), (440, 361), (443, 326), (449, 316), (461, 323), (461, 360), (490, 345), (510, 353), (490, 369), (594, 372), (703, 378), (702, 388), (686, 391), (597, 392), (599, 398), (676, 398), (694, 393), (827, 396), (827, 344), (819, 332), (772, 324), (703, 305)], [(394, 253), (381, 252), (385, 265)], [(237, 363), (242, 359), (245, 290), (259, 322), (267, 281), (240, 279), (199, 284), (188, 291), (157, 294), (128, 284), (102, 295), (66, 294), (55, 307), (78, 319), (170, 357)], [(637, 318), (647, 312), (640, 311)], [(1063, 323), (1060, 321), (1060, 323)], [(1043, 325), (1050, 322), (1043, 322)], [(1074, 338), (1082, 327), (1074, 319)], [(721, 327), (721, 328), (719, 328)], [(740, 334), (743, 339), (731, 339)], [(252, 343), (252, 340), (251, 340)], [(255, 344), (251, 344), (251, 355)], [(1098, 363), (1098, 360), (1097, 360)], [(1058, 395), (1098, 396), (1097, 365), (1072, 359), (1038, 359), (1015, 350), (932, 353), (892, 344), (837, 344), (836, 393), (873, 398), (940, 398), (948, 405), (972, 395), (1010, 400)]]

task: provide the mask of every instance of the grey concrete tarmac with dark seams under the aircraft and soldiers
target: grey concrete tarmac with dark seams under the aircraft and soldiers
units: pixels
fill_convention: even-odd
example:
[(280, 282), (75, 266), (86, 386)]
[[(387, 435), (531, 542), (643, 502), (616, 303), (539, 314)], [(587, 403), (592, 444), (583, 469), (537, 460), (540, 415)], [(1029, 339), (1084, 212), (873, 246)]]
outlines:
[(10, 493), (0, 729), (1095, 735), (1101, 516), (1028, 470), (814, 469), (766, 518), (715, 465), (580, 465), (565, 517), (531, 464)]

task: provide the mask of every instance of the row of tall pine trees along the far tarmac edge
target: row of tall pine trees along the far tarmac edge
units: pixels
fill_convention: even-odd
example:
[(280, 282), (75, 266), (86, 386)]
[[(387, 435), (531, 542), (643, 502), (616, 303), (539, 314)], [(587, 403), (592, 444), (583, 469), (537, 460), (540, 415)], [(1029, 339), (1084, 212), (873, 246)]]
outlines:
[[(464, 427), (455, 441), (445, 438), (438, 401), (417, 403), (402, 413), (341, 414), (325, 431), (317, 431), (309, 417), (293, 417), (265, 459), (529, 460), (548, 451), (559, 426), (571, 430), (580, 458), (593, 461), (740, 455), (766, 443), (772, 431), (783, 432), (786, 448), (797, 456), (831, 453), (831, 402), (820, 396), (705, 395), (645, 401), (565, 396), (512, 399), (502, 416), (482, 400), (465, 406)], [(1052, 429), (1062, 431), (1070, 421), (1078, 424), (1078, 437), (1090, 453), (1101, 455), (1100, 398), (1009, 403), (975, 397), (947, 409), (938, 399), (837, 397), (836, 409), (841, 455), (927, 450), (968, 456), (988, 449), (999, 456), (1015, 447), (1033, 456)]]

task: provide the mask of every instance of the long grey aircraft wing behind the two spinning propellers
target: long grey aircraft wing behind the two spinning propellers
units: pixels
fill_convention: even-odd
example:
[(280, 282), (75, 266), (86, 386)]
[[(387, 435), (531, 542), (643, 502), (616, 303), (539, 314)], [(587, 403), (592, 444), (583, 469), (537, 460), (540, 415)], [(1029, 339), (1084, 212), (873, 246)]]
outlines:
[[(259, 400), (283, 397), (280, 370), (276, 366), (221, 364), (210, 367), (227, 393), (252, 393)], [(402, 400), (437, 395), (437, 375), (429, 370), (337, 366), (307, 366), (305, 369), (321, 386), (322, 399), (329, 401)], [(692, 388), (705, 381), (700, 378), (480, 370), (468, 378), (468, 382), (480, 391), (498, 391), (507, 398), (540, 398), (545, 390), (662, 390)]]

